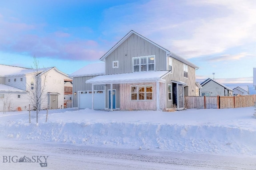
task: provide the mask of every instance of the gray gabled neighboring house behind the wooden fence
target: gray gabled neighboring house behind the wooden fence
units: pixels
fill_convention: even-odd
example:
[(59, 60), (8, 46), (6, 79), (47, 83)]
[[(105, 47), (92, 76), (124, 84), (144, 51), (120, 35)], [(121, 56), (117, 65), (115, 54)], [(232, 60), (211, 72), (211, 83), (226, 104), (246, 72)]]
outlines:
[(200, 96), (233, 96), (233, 90), (224, 84), (208, 78), (201, 83)]

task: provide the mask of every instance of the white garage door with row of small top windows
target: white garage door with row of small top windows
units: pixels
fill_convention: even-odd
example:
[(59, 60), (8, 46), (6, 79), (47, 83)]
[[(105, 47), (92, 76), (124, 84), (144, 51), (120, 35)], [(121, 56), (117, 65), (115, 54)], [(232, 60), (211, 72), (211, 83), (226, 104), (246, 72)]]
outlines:
[[(93, 95), (94, 109), (105, 109), (105, 91), (94, 91)], [(78, 108), (92, 108), (92, 92), (78, 92)]]

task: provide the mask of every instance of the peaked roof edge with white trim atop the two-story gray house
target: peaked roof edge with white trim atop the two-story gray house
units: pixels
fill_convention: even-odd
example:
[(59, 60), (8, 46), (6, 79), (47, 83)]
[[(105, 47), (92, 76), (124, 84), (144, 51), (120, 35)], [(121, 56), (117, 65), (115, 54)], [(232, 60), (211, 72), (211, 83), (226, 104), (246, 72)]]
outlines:
[(114, 45), (114, 47), (112, 47), (106, 54), (104, 54), (100, 60), (104, 61), (106, 59), (106, 57), (108, 57), (108, 55), (110, 53), (112, 53), (117, 47), (119, 47), (119, 45), (121, 45), (126, 39), (128, 39), (128, 37), (130, 37), (130, 35), (132, 34), (138, 35), (139, 37), (145, 39), (146, 41), (154, 44), (156, 47), (162, 49), (163, 51), (166, 51), (167, 55), (170, 57), (173, 57), (174, 59), (177, 59), (185, 64), (188, 64), (189, 66), (192, 66), (193, 68), (199, 68), (198, 66), (196, 66), (195, 64), (190, 63), (189, 61), (187, 61), (186, 59), (170, 52), (169, 50), (165, 49), (164, 47), (161, 47), (160, 45), (154, 43), (153, 41), (150, 41), (149, 39), (147, 39), (146, 37), (143, 37), (142, 35), (140, 35), (139, 33), (136, 33), (135, 31), (131, 30), (128, 34), (126, 34), (120, 41), (118, 41), (118, 43), (116, 43), (116, 45)]

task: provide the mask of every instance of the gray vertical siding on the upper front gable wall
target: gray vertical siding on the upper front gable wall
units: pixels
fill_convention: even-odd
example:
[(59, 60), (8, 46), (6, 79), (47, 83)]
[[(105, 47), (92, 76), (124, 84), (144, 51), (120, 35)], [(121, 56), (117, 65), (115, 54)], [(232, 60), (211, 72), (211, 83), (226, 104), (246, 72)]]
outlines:
[[(131, 73), (132, 58), (149, 55), (155, 55), (156, 71), (166, 70), (166, 51), (133, 33), (106, 57), (106, 74)], [(118, 61), (118, 68), (112, 68), (113, 61)]]

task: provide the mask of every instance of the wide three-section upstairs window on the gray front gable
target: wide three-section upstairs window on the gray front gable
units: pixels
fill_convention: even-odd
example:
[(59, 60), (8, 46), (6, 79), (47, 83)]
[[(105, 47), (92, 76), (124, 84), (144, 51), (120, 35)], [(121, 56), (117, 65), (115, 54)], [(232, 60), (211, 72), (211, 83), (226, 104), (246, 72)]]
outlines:
[(133, 58), (133, 72), (154, 71), (154, 70), (155, 70), (154, 55)]

